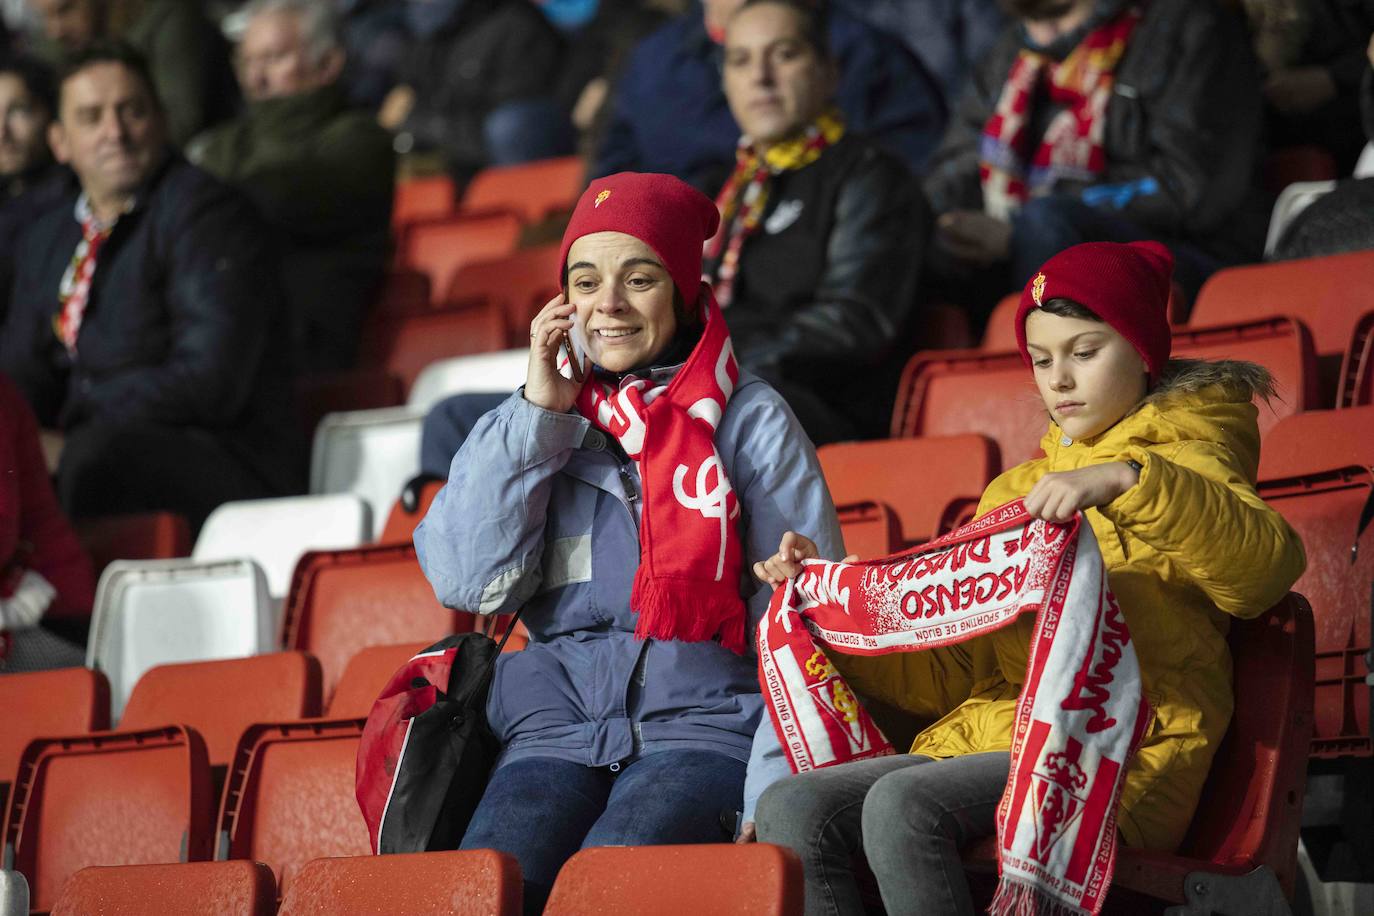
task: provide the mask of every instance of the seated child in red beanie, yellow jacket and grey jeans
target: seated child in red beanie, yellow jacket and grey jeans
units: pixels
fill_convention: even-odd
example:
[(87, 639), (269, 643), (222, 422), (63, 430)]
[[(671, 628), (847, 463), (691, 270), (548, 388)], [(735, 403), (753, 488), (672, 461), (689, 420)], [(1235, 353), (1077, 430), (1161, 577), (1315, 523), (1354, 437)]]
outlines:
[[(1062, 251), (1026, 283), (1021, 354), (1050, 415), (1044, 457), (995, 479), (978, 514), (1025, 499), (1030, 515), (1084, 512), (1129, 625), (1153, 722), (1127, 769), (1117, 827), (1129, 846), (1183, 839), (1231, 718), (1228, 621), (1275, 604), (1303, 573), (1303, 544), (1254, 492), (1256, 396), (1270, 374), (1237, 361), (1169, 358), (1173, 260), (1153, 242)], [(1010, 408), (1010, 405), (1009, 405)], [(786, 541), (757, 573), (769, 582), (820, 556)], [(808, 913), (859, 913), (861, 850), (897, 913), (971, 913), (959, 858), (995, 831), (1033, 615), (945, 650), (833, 654), (868, 698), (938, 718), (911, 753), (774, 783), (758, 838), (791, 846)], [(943, 718), (941, 718), (943, 717)]]

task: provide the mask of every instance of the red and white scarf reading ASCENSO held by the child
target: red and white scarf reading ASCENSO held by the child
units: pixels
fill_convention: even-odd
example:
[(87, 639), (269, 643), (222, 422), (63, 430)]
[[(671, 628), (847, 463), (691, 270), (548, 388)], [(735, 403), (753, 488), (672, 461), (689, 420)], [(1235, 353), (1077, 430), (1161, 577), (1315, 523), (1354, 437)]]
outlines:
[(998, 808), (993, 913), (1098, 913), (1116, 809), (1150, 706), (1092, 529), (1017, 500), (866, 563), (808, 562), (758, 628), (763, 694), (794, 772), (892, 754), (822, 645), (883, 655), (949, 645), (1035, 612), (1011, 777)]

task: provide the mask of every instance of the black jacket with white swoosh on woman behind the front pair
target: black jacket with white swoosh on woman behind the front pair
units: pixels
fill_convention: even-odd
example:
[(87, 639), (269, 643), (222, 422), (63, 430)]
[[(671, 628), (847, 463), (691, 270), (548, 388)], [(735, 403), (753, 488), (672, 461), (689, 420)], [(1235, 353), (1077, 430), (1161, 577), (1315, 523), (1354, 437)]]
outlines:
[[(905, 165), (857, 135), (775, 176), (725, 310), (741, 364), (846, 415), (871, 407), (860, 426), (881, 433), (890, 411), (875, 404), (886, 391), (877, 379), (904, 356), (893, 346), (905, 339), (929, 231)], [(708, 275), (717, 266), (708, 262)]]

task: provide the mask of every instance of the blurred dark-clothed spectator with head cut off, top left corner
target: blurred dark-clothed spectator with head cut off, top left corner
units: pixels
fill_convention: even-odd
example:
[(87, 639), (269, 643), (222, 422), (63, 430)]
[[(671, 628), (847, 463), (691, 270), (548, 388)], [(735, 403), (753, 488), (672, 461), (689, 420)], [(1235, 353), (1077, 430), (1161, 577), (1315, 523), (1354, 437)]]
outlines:
[(220, 30), (191, 0), (29, 0), (60, 58), (102, 38), (143, 54), (166, 110), (172, 143), (184, 144), (234, 114), (238, 91)]

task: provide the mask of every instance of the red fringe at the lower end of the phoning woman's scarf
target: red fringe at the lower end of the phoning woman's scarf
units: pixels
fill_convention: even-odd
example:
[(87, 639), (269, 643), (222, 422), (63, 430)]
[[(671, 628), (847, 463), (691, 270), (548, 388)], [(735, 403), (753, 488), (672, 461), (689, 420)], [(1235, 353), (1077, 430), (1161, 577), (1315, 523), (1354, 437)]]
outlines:
[(745, 603), (720, 582), (662, 582), (649, 573), (647, 563), (640, 563), (631, 607), (639, 614), (639, 639), (705, 643), (719, 634), (721, 645), (745, 654)]

